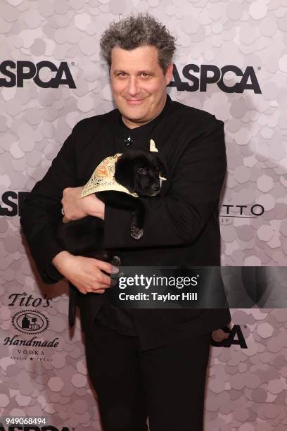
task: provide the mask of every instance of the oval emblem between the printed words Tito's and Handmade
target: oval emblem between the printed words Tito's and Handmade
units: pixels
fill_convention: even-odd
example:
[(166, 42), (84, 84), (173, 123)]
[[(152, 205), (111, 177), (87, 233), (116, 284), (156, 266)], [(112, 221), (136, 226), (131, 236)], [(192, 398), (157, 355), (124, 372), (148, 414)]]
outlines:
[(39, 334), (49, 327), (49, 319), (40, 311), (18, 311), (12, 316), (12, 325), (24, 334)]

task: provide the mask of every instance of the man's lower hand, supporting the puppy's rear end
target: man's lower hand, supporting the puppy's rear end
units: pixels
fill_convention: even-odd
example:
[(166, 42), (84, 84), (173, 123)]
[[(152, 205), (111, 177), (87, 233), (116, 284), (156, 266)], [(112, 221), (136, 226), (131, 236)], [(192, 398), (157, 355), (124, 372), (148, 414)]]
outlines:
[(52, 263), (82, 294), (105, 292), (110, 287), (110, 277), (102, 270), (109, 274), (118, 272), (118, 268), (108, 262), (74, 256), (68, 251), (60, 251)]

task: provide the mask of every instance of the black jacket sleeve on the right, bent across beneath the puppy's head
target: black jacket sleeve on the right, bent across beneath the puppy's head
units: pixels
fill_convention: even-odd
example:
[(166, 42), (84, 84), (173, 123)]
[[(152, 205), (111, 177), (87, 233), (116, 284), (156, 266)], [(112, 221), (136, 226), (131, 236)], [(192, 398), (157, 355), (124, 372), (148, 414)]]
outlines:
[(142, 199), (146, 220), (141, 239), (131, 237), (131, 217), (127, 211), (106, 206), (105, 246), (191, 244), (218, 206), (226, 168), (224, 123), (213, 116), (207, 130), (186, 147), (174, 175), (168, 178), (171, 185), (167, 194)]

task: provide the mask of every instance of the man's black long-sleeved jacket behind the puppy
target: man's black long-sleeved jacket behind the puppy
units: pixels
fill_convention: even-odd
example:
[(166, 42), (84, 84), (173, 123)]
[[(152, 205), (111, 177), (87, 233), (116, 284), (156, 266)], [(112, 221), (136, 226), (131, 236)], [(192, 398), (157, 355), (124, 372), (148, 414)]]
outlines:
[[(205, 111), (167, 96), (162, 113), (129, 130), (117, 109), (74, 127), (44, 178), (27, 197), (20, 223), (42, 280), (62, 277), (51, 260), (63, 249), (56, 241), (65, 187), (84, 185), (106, 156), (125, 151), (125, 137), (148, 148), (155, 141), (168, 168), (160, 196), (145, 198), (144, 235), (129, 233), (130, 214), (106, 206), (105, 245), (125, 266), (219, 266), (219, 194), (227, 168), (224, 125)], [(83, 330), (91, 327), (105, 294), (79, 294)], [(230, 322), (228, 309), (137, 309), (134, 319), (143, 348), (210, 332)]]

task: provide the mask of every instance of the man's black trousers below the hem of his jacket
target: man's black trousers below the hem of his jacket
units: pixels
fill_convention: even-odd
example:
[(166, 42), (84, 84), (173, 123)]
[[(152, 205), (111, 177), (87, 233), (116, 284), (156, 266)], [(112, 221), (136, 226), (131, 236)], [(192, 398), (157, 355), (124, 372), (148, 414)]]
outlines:
[(87, 367), (103, 431), (203, 431), (211, 334), (141, 351), (138, 337), (95, 321)]

